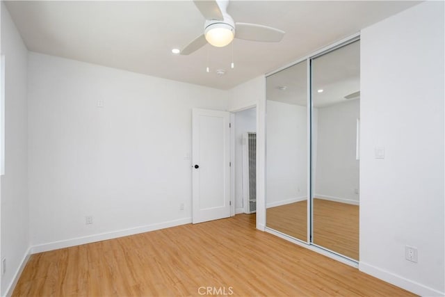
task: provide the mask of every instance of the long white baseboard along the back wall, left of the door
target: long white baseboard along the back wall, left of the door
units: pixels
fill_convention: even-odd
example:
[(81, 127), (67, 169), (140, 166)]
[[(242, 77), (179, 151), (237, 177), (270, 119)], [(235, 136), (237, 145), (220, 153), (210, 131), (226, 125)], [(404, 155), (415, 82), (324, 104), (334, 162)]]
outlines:
[(81, 244), (104, 241), (108, 239), (115, 239), (122, 236), (129, 236), (154, 230), (160, 230), (168, 227), (175, 227), (178, 225), (185, 225), (189, 223), (192, 223), (192, 218), (181, 218), (178, 220), (170, 220), (167, 222), (156, 223), (152, 225), (145, 225), (141, 227), (129, 228), (113, 232), (106, 232), (102, 234), (83, 236), (75, 239), (67, 239), (62, 241), (43, 243), (37, 246), (31, 246), (31, 254), (35, 254), (37, 252), (47, 252), (49, 250), (58, 250), (59, 248), (69, 248), (71, 246), (80, 246)]

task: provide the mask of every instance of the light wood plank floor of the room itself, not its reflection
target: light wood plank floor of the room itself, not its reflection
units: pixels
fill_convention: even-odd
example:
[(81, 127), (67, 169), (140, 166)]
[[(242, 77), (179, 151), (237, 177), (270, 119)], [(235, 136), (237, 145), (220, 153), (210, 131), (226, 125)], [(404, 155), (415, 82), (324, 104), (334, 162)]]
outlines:
[(254, 225), (241, 214), (35, 254), (13, 296), (413, 296)]

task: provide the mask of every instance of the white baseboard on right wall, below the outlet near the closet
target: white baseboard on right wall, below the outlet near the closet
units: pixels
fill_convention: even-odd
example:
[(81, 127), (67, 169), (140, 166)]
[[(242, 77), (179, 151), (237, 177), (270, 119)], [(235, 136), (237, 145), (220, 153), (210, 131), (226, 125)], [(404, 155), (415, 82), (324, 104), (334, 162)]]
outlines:
[(403, 278), (401, 275), (396, 275), (364, 262), (359, 262), (359, 271), (372, 275), (375, 278), (380, 278), (380, 280), (384, 280), (385, 282), (389, 282), (390, 284), (394, 284), (397, 287), (401, 287), (402, 289), (420, 296), (445, 296), (445, 292), (426, 287), (418, 282)]

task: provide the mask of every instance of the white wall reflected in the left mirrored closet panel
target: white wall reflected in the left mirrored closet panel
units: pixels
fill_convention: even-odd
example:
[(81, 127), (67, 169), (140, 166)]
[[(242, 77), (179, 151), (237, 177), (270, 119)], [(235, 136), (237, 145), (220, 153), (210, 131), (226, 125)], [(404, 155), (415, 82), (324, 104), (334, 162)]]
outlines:
[(307, 107), (267, 100), (266, 207), (307, 199)]

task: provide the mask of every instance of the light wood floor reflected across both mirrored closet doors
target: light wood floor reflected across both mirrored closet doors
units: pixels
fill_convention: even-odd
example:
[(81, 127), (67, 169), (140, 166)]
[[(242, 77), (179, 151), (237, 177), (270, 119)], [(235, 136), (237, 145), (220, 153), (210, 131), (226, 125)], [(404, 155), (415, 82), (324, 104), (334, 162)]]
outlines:
[[(307, 241), (307, 202), (267, 209), (266, 225)], [(358, 260), (359, 206), (314, 198), (314, 243)]]

